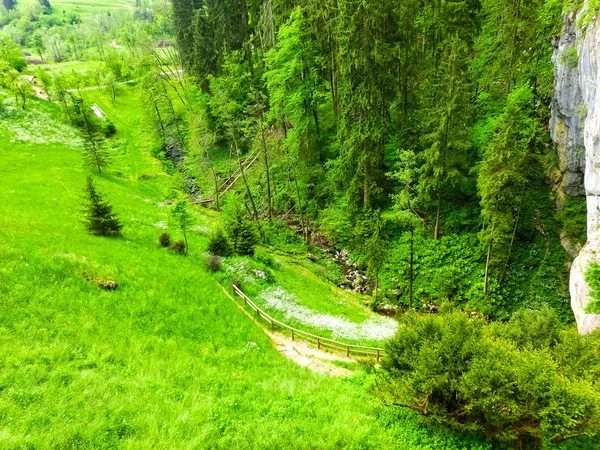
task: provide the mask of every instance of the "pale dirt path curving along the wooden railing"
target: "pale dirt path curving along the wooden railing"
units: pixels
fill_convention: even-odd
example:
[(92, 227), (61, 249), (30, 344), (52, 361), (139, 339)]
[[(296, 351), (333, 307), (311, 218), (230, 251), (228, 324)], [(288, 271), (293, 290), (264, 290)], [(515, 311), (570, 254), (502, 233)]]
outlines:
[(218, 284), (225, 295), (227, 295), (227, 297), (229, 297), (231, 301), (244, 312), (244, 314), (252, 319), (252, 321), (254, 321), (267, 336), (269, 336), (279, 353), (281, 353), (283, 356), (314, 372), (327, 373), (335, 377), (343, 377), (352, 374), (352, 371), (337, 366), (335, 361), (353, 363), (355, 362), (353, 359), (323, 350), (317, 350), (304, 341), (292, 341), (290, 338), (281, 333), (268, 331), (256, 320), (253, 315), (246, 311), (242, 305), (236, 302), (233, 296), (227, 292), (227, 290), (220, 283)]

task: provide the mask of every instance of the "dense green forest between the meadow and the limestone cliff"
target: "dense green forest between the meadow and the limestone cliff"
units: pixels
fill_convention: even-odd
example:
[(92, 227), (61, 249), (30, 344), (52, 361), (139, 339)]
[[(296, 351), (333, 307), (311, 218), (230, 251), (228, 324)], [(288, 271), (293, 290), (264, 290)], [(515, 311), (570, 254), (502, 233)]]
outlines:
[[(204, 136), (188, 142), (186, 170), (211, 174), (211, 197), (219, 173), (226, 184), (241, 172), (250, 216), (293, 215), (306, 241), (324, 234), (351, 250), (387, 302), (452, 300), (496, 317), (537, 304), (533, 278), (515, 269), (528, 248), (531, 270), (564, 272), (544, 166), (562, 10), (558, 0), (175, 0), (177, 43), (200, 88), (188, 123)], [(255, 155), (264, 161), (250, 170)], [(418, 255), (426, 248), (437, 257)], [(561, 318), (565, 279), (541, 299)]]

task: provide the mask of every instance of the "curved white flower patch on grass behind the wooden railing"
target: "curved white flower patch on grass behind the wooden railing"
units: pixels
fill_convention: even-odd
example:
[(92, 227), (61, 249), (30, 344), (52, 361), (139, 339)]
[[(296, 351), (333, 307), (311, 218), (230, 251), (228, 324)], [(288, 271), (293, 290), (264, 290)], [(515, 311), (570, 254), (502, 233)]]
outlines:
[(296, 296), (286, 292), (281, 286), (264, 289), (259, 298), (267, 308), (283, 313), (287, 319), (331, 331), (334, 339), (382, 341), (392, 337), (398, 329), (398, 323), (390, 317), (373, 316), (362, 323), (355, 323), (342, 317), (315, 312), (301, 305)]

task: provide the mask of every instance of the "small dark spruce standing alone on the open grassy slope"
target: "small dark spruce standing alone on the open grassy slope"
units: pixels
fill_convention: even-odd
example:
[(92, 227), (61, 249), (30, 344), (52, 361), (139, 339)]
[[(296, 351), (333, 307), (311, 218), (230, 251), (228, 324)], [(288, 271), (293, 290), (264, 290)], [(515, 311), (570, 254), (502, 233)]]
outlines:
[(86, 178), (85, 226), (95, 236), (120, 237), (123, 225), (112, 206), (98, 192), (91, 176)]

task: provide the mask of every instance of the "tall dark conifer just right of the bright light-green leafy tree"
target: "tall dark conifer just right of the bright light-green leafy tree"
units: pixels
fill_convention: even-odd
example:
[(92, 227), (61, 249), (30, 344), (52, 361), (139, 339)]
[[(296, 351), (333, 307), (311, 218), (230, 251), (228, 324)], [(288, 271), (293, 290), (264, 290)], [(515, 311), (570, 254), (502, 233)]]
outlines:
[(340, 3), (339, 177), (340, 181), (350, 180), (345, 184), (352, 203), (363, 208), (375, 207), (383, 193), (395, 30), (387, 1)]

